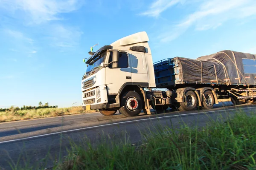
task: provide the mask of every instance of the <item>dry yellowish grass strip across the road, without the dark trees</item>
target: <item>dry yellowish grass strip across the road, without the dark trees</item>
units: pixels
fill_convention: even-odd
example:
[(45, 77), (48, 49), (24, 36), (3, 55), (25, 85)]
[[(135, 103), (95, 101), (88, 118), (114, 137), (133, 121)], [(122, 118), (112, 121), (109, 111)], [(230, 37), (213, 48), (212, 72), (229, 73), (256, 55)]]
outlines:
[(95, 112), (95, 110), (84, 111), (81, 107), (72, 108), (41, 108), (31, 110), (0, 112), (0, 122), (9, 122), (24, 119), (36, 119), (61, 115)]

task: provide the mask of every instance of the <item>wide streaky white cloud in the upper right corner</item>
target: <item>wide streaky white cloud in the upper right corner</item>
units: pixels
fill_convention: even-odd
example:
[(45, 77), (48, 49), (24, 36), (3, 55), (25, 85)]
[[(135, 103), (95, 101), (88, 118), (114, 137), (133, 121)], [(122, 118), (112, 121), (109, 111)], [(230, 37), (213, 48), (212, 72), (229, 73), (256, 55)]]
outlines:
[(161, 42), (175, 40), (192, 26), (195, 30), (215, 29), (231, 19), (242, 19), (256, 14), (255, 0), (201, 0), (199, 8), (177, 25), (166, 27), (159, 35)]

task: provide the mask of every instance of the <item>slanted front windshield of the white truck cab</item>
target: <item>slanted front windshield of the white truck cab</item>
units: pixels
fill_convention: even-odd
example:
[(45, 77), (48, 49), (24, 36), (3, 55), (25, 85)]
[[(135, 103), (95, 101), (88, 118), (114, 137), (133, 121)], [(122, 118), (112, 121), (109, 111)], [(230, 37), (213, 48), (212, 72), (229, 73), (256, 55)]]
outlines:
[(90, 75), (95, 74), (96, 72), (98, 72), (102, 68), (102, 66), (103, 66), (101, 64), (102, 64), (102, 62), (104, 62), (105, 57), (106, 57), (106, 51), (101, 53), (101, 54), (99, 54), (99, 57), (96, 57), (93, 60), (93, 62), (91, 62), (88, 65), (88, 67), (86, 69), (86, 73), (84, 74), (83, 79), (85, 79), (85, 78), (89, 77)]

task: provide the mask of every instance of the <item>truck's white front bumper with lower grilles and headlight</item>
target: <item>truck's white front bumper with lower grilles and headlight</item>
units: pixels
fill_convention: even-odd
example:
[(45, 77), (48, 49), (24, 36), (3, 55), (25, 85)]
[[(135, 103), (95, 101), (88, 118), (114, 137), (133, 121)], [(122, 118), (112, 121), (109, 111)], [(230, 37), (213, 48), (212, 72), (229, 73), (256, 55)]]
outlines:
[(107, 87), (100, 85), (90, 91), (83, 92), (82, 100), (82, 108), (84, 110), (100, 109), (98, 108), (99, 105), (107, 105), (108, 103)]

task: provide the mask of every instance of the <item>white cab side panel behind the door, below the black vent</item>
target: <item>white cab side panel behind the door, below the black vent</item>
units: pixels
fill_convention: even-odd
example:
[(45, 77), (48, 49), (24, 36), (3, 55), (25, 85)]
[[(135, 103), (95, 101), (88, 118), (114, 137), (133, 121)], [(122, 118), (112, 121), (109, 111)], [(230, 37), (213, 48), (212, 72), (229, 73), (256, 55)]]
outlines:
[(148, 71), (144, 53), (130, 53), (131, 77), (134, 83), (148, 83)]

